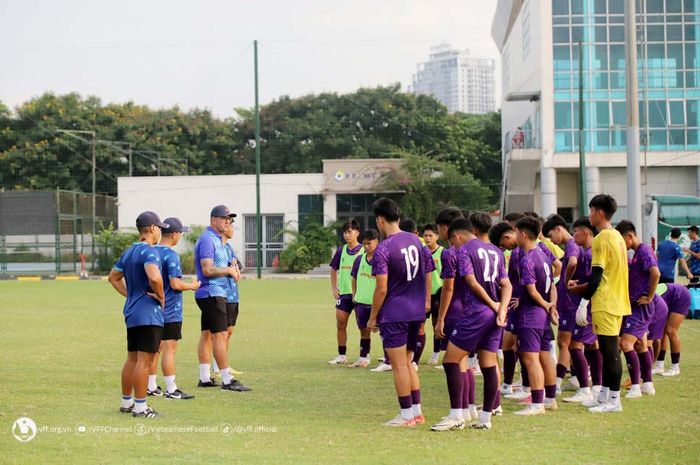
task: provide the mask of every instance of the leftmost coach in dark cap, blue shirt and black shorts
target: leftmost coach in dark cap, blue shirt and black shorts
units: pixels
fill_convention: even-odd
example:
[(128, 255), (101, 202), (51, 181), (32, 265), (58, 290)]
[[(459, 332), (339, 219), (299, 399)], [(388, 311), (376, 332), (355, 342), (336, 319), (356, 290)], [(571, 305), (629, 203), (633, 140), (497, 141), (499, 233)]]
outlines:
[[(163, 335), (165, 293), (160, 271), (160, 253), (154, 247), (161, 238), (162, 223), (154, 212), (136, 218), (139, 242), (129, 247), (109, 274), (109, 283), (126, 297), (127, 359), (122, 368), (122, 413), (135, 417), (156, 417), (146, 404), (148, 370)], [(133, 393), (133, 397), (132, 397)]]

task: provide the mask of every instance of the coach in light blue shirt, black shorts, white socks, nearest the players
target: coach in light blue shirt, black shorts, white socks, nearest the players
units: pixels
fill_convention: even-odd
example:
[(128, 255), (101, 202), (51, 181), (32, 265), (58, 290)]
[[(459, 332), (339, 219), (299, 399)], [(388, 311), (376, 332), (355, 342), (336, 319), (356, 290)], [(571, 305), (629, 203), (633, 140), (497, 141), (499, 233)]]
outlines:
[(223, 235), (233, 223), (235, 213), (225, 205), (211, 210), (209, 227), (204, 230), (194, 246), (194, 265), (201, 286), (195, 292), (195, 300), (202, 311), (199, 347), (198, 387), (213, 387), (211, 378), (211, 354), (221, 371), (221, 389), (225, 391), (249, 391), (231, 375), (228, 365), (228, 315), (226, 298), (228, 278), (238, 276), (238, 268), (229, 265), (229, 256), (224, 246)]

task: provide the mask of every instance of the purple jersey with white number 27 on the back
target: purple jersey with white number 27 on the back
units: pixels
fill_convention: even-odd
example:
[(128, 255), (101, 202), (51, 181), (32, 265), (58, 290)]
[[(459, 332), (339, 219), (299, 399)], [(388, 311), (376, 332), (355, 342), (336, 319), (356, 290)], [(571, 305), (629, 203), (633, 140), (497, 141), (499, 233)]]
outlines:
[[(458, 257), (460, 280), (464, 281), (467, 275), (473, 275), (492, 300), (500, 301), (501, 279), (508, 277), (501, 249), (479, 239), (472, 239), (462, 246)], [(493, 312), (486, 302), (468, 288), (464, 292), (462, 304), (468, 313)]]

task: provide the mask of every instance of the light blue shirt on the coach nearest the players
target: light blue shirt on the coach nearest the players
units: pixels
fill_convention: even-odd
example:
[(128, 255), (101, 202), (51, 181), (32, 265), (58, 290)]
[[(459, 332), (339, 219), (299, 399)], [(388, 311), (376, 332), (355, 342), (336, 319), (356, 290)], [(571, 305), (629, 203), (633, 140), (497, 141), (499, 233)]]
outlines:
[(214, 261), (214, 266), (226, 268), (228, 266), (228, 253), (221, 240), (221, 235), (211, 228), (204, 230), (197, 243), (194, 245), (194, 267), (197, 271), (197, 279), (201, 285), (194, 293), (196, 299), (207, 297), (228, 296), (228, 277), (208, 278), (202, 273), (202, 260), (208, 258)]

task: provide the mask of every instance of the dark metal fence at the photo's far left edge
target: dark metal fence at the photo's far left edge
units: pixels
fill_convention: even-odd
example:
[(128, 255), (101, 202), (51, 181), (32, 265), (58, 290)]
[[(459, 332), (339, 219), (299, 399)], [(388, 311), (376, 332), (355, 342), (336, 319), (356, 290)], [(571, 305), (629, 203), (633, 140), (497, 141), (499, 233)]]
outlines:
[(117, 227), (117, 199), (64, 190), (0, 192), (0, 274), (96, 267), (94, 231)]

